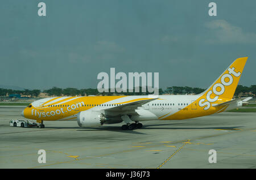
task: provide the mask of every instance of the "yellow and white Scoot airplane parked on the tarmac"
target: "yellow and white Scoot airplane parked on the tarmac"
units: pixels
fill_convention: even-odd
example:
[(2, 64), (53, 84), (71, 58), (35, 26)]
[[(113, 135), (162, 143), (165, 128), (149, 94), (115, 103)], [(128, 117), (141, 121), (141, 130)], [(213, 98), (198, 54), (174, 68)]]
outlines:
[(199, 95), (49, 97), (32, 102), (23, 117), (43, 121), (77, 119), (81, 127), (125, 122), (123, 130), (141, 128), (139, 121), (181, 120), (242, 106), (249, 98), (233, 100), (247, 57), (234, 61)]

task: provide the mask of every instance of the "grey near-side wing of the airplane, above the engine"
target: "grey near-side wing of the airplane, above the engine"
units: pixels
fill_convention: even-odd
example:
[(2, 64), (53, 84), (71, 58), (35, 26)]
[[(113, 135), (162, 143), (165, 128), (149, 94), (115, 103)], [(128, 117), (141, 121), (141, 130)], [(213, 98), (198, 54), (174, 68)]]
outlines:
[(154, 101), (158, 98), (148, 98), (146, 100), (138, 100), (135, 102), (128, 102), (126, 104), (120, 104), (118, 106), (114, 106), (112, 108), (104, 109), (105, 111), (109, 112), (123, 112), (127, 110), (135, 110), (138, 109), (139, 107), (142, 107), (143, 104), (146, 104), (148, 102)]

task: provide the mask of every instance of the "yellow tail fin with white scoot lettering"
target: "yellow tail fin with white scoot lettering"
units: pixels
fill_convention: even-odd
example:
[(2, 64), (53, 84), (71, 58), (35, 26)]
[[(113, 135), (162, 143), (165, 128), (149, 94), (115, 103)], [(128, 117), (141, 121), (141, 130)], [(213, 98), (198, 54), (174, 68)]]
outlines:
[(236, 91), (237, 84), (243, 72), (248, 57), (238, 58), (234, 61), (210, 87), (201, 93), (199, 106), (210, 108), (210, 103), (218, 100), (231, 100)]

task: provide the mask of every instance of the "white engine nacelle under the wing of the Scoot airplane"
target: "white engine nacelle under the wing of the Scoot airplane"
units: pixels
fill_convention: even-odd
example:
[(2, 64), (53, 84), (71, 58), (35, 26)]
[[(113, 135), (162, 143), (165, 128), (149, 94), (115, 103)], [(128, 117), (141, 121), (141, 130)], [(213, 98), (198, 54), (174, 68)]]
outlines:
[(77, 123), (80, 127), (98, 127), (105, 121), (106, 117), (100, 112), (86, 110), (77, 114)]

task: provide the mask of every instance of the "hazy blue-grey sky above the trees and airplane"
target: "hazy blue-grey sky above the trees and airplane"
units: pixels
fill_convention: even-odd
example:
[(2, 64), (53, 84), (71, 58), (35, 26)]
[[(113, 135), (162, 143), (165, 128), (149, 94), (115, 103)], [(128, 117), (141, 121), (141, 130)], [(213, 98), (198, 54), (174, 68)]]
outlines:
[[(46, 16), (38, 16), (38, 3)], [(208, 15), (216, 2), (217, 16)], [(108, 72), (159, 72), (159, 86), (207, 88), (236, 58), (256, 84), (256, 1), (3, 1), (0, 84), (97, 88)]]

